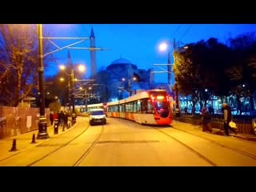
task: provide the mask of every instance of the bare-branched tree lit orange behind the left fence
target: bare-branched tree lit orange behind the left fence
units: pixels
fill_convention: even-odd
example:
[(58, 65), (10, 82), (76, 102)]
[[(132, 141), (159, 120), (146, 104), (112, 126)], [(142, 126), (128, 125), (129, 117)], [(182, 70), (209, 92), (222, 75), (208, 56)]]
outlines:
[[(49, 45), (44, 45), (44, 51)], [(0, 103), (18, 106), (31, 90), (38, 88), (37, 25), (0, 25)], [(52, 55), (44, 61), (53, 61)], [(45, 67), (47, 65), (45, 64)]]

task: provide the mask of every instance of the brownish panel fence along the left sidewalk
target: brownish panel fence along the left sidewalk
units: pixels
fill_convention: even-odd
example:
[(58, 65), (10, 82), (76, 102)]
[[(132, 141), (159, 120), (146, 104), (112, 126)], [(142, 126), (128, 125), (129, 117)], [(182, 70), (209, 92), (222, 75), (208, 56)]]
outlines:
[[(50, 109), (46, 108), (46, 119), (49, 124)], [(0, 106), (0, 139), (38, 130), (38, 108)]]

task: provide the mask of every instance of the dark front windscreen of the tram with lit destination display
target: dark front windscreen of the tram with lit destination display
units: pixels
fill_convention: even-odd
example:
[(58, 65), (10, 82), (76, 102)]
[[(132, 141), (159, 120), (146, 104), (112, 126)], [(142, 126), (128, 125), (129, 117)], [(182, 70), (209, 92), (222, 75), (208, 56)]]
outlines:
[(151, 93), (151, 99), (155, 111), (162, 117), (168, 117), (170, 113), (170, 102), (166, 93)]

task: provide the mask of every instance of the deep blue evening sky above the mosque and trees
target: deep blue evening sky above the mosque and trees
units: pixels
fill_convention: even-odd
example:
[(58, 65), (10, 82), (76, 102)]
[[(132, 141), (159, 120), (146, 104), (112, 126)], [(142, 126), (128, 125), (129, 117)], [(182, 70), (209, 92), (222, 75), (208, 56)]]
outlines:
[[(126, 58), (139, 69), (154, 68), (153, 64), (166, 64), (167, 52), (158, 50), (161, 42), (174, 38), (184, 44), (218, 38), (226, 43), (228, 38), (238, 34), (256, 31), (256, 24), (43, 24), (44, 37), (89, 38), (93, 27), (96, 47), (108, 50), (97, 51), (97, 70), (105, 69), (118, 58)], [(66, 46), (78, 40), (52, 40), (58, 46)], [(181, 43), (180, 43), (181, 44)], [(79, 43), (76, 47), (90, 47), (90, 40)], [(54, 48), (54, 46), (53, 46)], [(86, 66), (85, 78), (90, 78), (90, 51), (70, 50), (74, 64)], [(170, 46), (170, 51), (172, 47)], [(66, 64), (67, 49), (54, 53), (58, 64)], [(173, 63), (173, 58), (171, 58)], [(58, 72), (58, 64), (52, 64), (46, 69), (45, 75)], [(166, 66), (163, 66), (166, 69)], [(155, 74), (156, 82), (167, 82), (167, 74)]]

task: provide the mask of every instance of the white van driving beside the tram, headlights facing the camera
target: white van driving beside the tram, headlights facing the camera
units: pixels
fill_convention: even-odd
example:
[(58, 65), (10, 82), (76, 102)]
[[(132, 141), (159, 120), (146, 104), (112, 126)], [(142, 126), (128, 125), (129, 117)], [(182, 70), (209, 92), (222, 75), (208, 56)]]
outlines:
[(106, 114), (103, 109), (90, 109), (90, 126), (95, 124), (106, 124)]

